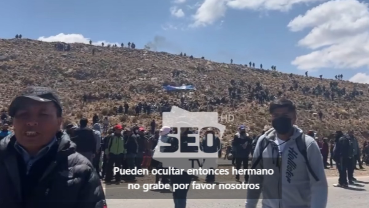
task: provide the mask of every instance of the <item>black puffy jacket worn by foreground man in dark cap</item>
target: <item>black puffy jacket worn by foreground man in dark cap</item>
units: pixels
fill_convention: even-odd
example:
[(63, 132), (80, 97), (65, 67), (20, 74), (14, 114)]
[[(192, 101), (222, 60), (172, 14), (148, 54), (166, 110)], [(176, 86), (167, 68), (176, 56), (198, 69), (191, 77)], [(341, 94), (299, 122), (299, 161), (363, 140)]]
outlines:
[[(40, 159), (47, 162), (37, 164), (37, 161), (32, 166), (43, 167), (34, 171), (31, 168), (30, 174), (42, 171), (34, 181), (25, 180), (25, 171), (20, 171), (25, 164), (15, 151), (15, 136), (9, 135), (0, 141), (0, 207), (104, 207), (104, 191), (91, 162), (75, 151), (76, 145), (66, 133), (58, 132), (56, 138), (57, 143)], [(24, 194), (21, 187), (30, 184), (32, 188)]]

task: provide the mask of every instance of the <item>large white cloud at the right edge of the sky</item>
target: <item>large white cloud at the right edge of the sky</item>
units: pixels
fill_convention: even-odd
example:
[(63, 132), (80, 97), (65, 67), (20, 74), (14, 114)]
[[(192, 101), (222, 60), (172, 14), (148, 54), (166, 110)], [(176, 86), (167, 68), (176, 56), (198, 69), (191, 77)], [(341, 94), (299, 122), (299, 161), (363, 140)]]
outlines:
[(367, 3), (357, 0), (328, 1), (299, 15), (290, 21), (288, 27), (291, 31), (311, 28), (298, 44), (315, 51), (292, 61), (301, 70), (369, 67)]

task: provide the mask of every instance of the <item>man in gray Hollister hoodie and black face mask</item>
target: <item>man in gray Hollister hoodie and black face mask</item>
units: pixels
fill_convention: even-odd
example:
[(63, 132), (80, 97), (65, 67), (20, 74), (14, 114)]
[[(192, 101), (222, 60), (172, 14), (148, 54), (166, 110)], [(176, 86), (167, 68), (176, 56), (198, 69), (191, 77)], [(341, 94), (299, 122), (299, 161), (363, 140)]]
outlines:
[[(262, 208), (325, 208), (328, 185), (317, 142), (296, 125), (296, 107), (280, 98), (270, 104), (272, 126), (254, 151), (252, 168), (272, 169), (273, 175), (250, 175), (246, 208), (256, 208), (261, 192)], [(303, 148), (304, 147), (304, 148)]]

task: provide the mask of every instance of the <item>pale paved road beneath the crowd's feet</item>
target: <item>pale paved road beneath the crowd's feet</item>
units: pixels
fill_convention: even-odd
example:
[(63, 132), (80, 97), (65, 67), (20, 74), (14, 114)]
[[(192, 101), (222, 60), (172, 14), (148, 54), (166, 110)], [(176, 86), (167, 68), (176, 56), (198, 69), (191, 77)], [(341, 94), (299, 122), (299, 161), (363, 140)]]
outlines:
[[(336, 188), (333, 187), (333, 184), (337, 183), (337, 178), (328, 178), (328, 206), (327, 208), (365, 208), (368, 207), (368, 195), (369, 195), (369, 177), (357, 177), (359, 181), (357, 185), (350, 185), (350, 189), (344, 188)], [(225, 190), (224, 190), (225, 191)], [(132, 190), (127, 189), (127, 185), (116, 185), (108, 186), (105, 189), (107, 198), (129, 198), (130, 192)], [(171, 193), (161, 193), (155, 191), (148, 191), (148, 198), (153, 199), (107, 199), (107, 204), (109, 208), (121, 208), (121, 207), (130, 207), (130, 208), (142, 208), (142, 207), (150, 207), (150, 208), (172, 208), (173, 200), (169, 199), (171, 197)], [(196, 190), (190, 189), (190, 193), (200, 193)], [(239, 199), (221, 199), (221, 197), (217, 197), (219, 192), (212, 193), (204, 193), (207, 191), (202, 190), (202, 194), (200, 194), (200, 198), (204, 195), (213, 197), (214, 199), (188, 199), (187, 207), (190, 208), (239, 208), (244, 207), (245, 199), (244, 197), (240, 197)], [(227, 192), (227, 193), (226, 193)], [(225, 194), (235, 194), (236, 192), (232, 190), (226, 190), (223, 192)], [(233, 193), (232, 193), (233, 192)], [(242, 192), (242, 191), (237, 191)], [(142, 192), (141, 192), (142, 193)], [(115, 197), (112, 197), (112, 196)], [(146, 195), (146, 194), (145, 194)], [(165, 195), (165, 196), (164, 196)], [(242, 193), (244, 195), (244, 193)], [(124, 197), (125, 196), (125, 197)], [(193, 196), (193, 194), (192, 194)], [(161, 198), (161, 199), (154, 199)], [(163, 199), (168, 198), (168, 199)], [(258, 208), (261, 207), (260, 203)]]

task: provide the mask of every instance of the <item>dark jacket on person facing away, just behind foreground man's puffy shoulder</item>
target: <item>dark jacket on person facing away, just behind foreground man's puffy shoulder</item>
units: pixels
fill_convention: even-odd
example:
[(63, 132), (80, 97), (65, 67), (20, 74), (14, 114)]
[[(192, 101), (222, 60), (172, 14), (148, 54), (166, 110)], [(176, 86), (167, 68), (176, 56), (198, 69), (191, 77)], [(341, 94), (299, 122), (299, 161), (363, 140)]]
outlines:
[(89, 127), (76, 128), (72, 141), (77, 145), (77, 152), (96, 152), (96, 138)]

